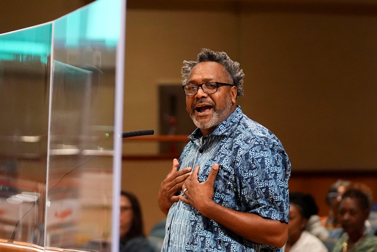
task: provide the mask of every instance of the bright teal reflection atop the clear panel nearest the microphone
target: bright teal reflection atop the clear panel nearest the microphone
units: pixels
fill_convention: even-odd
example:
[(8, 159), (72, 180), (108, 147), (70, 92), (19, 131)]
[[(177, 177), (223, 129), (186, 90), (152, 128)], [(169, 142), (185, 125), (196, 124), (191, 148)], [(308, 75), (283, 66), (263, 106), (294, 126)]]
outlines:
[(100, 45), (115, 47), (120, 32), (120, 0), (98, 0), (80, 11), (55, 21), (54, 39), (58, 47)]

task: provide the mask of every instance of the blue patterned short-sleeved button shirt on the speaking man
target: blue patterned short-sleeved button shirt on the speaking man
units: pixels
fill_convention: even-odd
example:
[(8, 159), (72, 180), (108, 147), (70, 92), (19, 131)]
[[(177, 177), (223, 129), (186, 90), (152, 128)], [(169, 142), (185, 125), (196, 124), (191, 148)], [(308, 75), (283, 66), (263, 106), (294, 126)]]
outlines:
[[(288, 179), (291, 164), (287, 153), (267, 128), (247, 118), (241, 107), (208, 136), (197, 128), (179, 158), (179, 169), (200, 166), (198, 179), (207, 179), (219, 164), (213, 200), (227, 208), (288, 223)], [(205, 217), (193, 206), (175, 202), (166, 221), (162, 252), (281, 251), (254, 243)]]

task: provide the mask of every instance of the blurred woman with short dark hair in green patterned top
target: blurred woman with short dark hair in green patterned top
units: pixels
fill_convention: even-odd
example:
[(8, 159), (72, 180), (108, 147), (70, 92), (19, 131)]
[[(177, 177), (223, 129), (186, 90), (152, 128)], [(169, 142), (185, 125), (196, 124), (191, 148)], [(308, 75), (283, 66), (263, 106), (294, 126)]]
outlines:
[(370, 198), (360, 189), (349, 189), (342, 195), (339, 221), (344, 233), (333, 252), (377, 252), (377, 237), (365, 228), (369, 210)]

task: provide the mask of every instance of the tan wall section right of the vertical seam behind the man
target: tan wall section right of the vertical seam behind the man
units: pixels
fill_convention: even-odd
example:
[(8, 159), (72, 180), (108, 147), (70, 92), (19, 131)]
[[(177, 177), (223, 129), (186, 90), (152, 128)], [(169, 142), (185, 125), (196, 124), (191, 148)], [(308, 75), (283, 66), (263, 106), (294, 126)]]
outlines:
[(245, 13), (244, 111), (283, 142), (294, 169), (376, 169), (377, 18)]

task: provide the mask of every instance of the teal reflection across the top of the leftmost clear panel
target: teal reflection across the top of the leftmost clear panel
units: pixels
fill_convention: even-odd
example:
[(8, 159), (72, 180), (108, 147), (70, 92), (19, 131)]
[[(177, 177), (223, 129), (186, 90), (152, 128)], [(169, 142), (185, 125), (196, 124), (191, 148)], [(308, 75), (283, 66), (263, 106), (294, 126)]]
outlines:
[(52, 24), (44, 24), (0, 36), (0, 60), (38, 61), (47, 64), (51, 53)]

